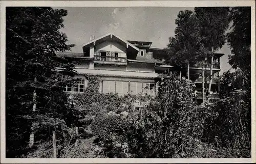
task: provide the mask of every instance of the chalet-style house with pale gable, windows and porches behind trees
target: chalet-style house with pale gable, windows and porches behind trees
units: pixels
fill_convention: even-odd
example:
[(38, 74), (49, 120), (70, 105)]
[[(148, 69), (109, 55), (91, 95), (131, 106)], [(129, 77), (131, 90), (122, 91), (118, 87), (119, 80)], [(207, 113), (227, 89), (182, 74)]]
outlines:
[[(75, 64), (80, 81), (75, 87), (66, 86), (67, 92), (84, 92), (87, 81), (84, 75), (98, 75), (101, 77), (100, 93), (139, 94), (147, 93), (155, 95), (157, 84), (155, 78), (166, 70), (175, 70), (173, 66), (166, 65), (164, 61), (154, 59), (154, 55), (163, 54), (161, 48), (151, 47), (152, 42), (127, 41), (121, 37), (109, 33), (91, 40), (82, 45), (83, 53), (61, 52), (69, 60), (76, 61)], [(216, 55), (214, 61), (219, 63), (221, 54)], [(200, 85), (202, 78), (194, 78), (193, 74), (202, 72), (200, 63), (189, 67), (191, 80), (197, 84), (198, 99), (200, 97)], [(215, 77), (219, 76), (220, 67), (214, 66)], [(213, 91), (219, 95), (219, 87), (213, 80)], [(217, 95), (217, 94), (216, 94)], [(213, 97), (214, 98), (214, 97)], [(219, 98), (219, 96), (216, 96)]]

